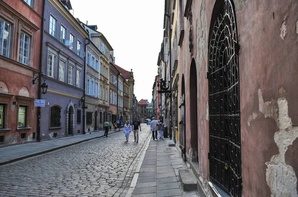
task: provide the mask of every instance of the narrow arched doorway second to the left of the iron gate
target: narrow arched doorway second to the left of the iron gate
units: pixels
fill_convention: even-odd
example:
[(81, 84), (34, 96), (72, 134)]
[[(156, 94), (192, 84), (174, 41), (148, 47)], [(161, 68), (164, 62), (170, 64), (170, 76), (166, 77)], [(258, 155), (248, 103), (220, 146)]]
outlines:
[(180, 148), (181, 148), (181, 156), (186, 161), (186, 135), (185, 135), (185, 83), (184, 83), (184, 75), (182, 75), (182, 83), (181, 83), (181, 98), (180, 98)]

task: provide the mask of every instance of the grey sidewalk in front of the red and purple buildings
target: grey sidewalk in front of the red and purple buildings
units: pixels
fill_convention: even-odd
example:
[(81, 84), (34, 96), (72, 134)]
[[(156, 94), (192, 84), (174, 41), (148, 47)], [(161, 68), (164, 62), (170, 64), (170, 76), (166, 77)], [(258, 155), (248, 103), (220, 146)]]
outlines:
[[(123, 128), (121, 128), (121, 131)], [(109, 131), (109, 135), (117, 131)], [(58, 138), (54, 140), (36, 142), (36, 143), (26, 143), (22, 145), (15, 145), (0, 148), (0, 165), (5, 165), (14, 161), (25, 159), (28, 157), (36, 156), (39, 154), (44, 154), (51, 152), (60, 148), (69, 147), (82, 142), (86, 142), (92, 139), (101, 138), (104, 135), (104, 131), (86, 133), (85, 135), (76, 135), (65, 138)]]

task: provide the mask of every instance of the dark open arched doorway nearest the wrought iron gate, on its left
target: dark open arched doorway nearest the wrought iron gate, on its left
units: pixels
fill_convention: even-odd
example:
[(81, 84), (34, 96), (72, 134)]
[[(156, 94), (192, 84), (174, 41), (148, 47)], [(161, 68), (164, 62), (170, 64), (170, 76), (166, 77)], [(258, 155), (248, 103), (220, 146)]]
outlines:
[(192, 161), (198, 162), (198, 115), (197, 115), (197, 68), (195, 60), (191, 61), (189, 76), (190, 99), (190, 145)]

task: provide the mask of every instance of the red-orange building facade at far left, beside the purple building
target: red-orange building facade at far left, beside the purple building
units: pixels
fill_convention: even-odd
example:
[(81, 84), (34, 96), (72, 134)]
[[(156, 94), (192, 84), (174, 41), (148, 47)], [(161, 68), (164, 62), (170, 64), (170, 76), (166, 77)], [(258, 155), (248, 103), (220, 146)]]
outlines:
[(39, 140), (42, 8), (0, 0), (0, 146)]

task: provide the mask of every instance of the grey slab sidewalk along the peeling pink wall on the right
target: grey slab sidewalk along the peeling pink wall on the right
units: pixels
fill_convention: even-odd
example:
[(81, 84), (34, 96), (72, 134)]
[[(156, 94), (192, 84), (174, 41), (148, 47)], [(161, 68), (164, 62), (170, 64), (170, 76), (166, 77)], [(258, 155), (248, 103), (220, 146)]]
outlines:
[(150, 140), (126, 197), (198, 197), (196, 191), (183, 191), (178, 170), (187, 166), (169, 145), (173, 145), (172, 140)]

